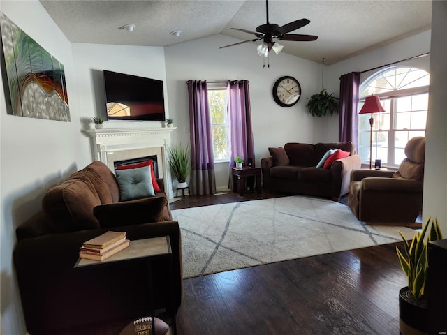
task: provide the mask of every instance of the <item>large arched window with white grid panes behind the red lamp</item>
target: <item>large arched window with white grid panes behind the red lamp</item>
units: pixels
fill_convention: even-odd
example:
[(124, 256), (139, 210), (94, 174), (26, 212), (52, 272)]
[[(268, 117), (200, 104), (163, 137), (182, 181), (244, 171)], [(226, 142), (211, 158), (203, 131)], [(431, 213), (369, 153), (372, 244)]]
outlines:
[[(365, 98), (379, 96), (386, 112), (375, 113), (372, 134), (372, 162), (397, 167), (405, 158), (404, 148), (413, 137), (425, 136), (430, 74), (418, 68), (386, 68), (360, 85), (358, 110)], [(358, 154), (369, 164), (369, 118), (358, 115)]]

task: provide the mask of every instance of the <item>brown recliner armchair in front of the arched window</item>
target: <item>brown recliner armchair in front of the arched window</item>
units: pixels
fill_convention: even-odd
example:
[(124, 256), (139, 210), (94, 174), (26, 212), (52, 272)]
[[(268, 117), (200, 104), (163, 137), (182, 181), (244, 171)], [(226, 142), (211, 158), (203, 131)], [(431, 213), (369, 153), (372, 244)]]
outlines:
[(425, 137), (405, 146), (399, 170), (353, 170), (349, 207), (366, 223), (414, 224), (422, 209)]

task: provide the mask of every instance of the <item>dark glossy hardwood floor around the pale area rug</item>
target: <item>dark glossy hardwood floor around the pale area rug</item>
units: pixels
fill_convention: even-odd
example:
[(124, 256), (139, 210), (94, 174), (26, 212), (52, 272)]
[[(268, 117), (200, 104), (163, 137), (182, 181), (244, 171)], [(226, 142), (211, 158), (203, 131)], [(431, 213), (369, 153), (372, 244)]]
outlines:
[[(272, 198), (233, 192), (186, 196), (171, 209)], [(299, 237), (297, 237), (299, 243)], [(387, 244), (189, 278), (177, 334), (399, 334), (406, 286)]]

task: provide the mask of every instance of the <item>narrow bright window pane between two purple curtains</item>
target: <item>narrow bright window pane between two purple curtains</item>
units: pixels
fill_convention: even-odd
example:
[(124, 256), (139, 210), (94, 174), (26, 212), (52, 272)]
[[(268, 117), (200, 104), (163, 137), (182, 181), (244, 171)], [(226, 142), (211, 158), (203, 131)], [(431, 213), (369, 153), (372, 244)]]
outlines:
[(208, 104), (211, 113), (212, 146), (214, 161), (230, 159), (230, 144), (228, 140), (228, 92), (226, 88), (208, 89)]

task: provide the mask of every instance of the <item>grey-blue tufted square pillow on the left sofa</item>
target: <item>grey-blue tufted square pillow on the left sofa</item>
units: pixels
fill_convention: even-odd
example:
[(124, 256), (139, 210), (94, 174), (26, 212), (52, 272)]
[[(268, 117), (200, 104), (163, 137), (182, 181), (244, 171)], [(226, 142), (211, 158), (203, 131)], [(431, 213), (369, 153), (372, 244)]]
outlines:
[(155, 195), (149, 166), (117, 170), (120, 200), (133, 200)]

